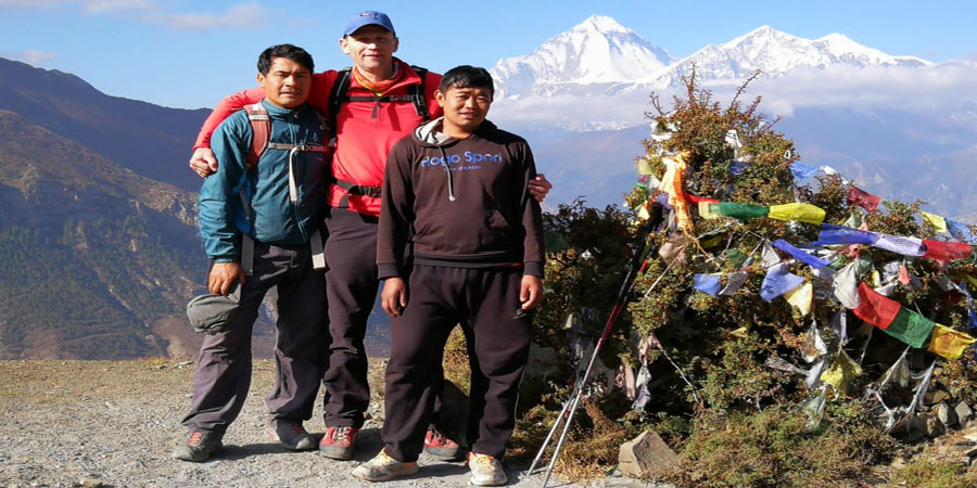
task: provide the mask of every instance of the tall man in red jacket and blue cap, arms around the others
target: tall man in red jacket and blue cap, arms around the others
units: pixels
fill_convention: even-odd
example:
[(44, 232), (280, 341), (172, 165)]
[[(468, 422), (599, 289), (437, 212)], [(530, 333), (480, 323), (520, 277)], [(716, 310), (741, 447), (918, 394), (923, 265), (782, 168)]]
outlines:
[[(353, 60), (348, 73), (328, 70), (313, 76), (308, 104), (335, 121), (335, 152), (327, 190), (326, 261), (329, 271), (327, 301), (329, 334), (327, 370), (322, 378), (326, 435), (319, 449), (334, 459), (351, 459), (356, 435), (369, 404), (367, 358), (364, 348), (367, 319), (379, 286), (376, 266), (380, 187), (386, 155), (396, 141), (420, 123), (440, 117), (434, 92), (441, 76), (420, 74), (394, 57), (399, 40), (393, 23), (381, 12), (360, 12), (350, 18), (340, 48)], [(333, 87), (348, 76), (342, 103), (331, 102)], [(418, 87), (423, 86), (419, 93)], [(264, 97), (250, 89), (225, 99), (204, 123), (194, 144), (190, 167), (201, 176), (213, 172), (210, 136), (227, 116)], [(422, 98), (422, 100), (418, 100)], [(419, 113), (424, 106), (424, 113)], [(529, 182), (530, 192), (542, 200), (551, 188), (540, 178)], [(440, 458), (457, 455), (458, 446), (436, 429), (428, 432), (426, 451)]]

